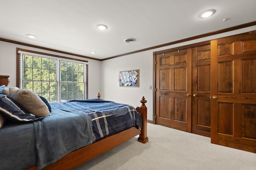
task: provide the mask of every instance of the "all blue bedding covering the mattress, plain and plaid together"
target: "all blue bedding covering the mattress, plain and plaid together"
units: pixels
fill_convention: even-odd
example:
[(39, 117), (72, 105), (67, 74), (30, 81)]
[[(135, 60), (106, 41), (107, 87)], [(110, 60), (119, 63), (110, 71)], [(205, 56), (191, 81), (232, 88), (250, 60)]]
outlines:
[(40, 121), (0, 129), (0, 170), (41, 169), (94, 141), (142, 126), (136, 109), (126, 104), (96, 99), (50, 105), (51, 115)]

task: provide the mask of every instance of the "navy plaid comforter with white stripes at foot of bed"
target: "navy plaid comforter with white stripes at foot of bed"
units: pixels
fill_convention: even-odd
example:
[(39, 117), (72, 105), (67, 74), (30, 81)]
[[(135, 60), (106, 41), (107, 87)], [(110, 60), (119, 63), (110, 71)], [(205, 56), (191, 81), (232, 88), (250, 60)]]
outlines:
[(142, 119), (136, 109), (127, 104), (101, 99), (70, 101), (63, 104), (90, 116), (96, 141), (133, 126), (142, 126)]

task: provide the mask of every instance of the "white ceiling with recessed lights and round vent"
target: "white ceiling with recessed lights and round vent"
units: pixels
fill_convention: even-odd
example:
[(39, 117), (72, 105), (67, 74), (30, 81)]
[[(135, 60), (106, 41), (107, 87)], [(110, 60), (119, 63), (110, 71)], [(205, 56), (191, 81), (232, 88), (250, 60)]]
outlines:
[(256, 21), (255, 9), (256, 0), (1, 0), (0, 38), (106, 59)]

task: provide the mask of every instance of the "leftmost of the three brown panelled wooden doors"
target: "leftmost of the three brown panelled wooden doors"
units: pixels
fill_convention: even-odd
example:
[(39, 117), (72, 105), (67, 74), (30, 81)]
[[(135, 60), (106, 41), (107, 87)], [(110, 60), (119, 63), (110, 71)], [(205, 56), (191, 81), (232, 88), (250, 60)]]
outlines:
[(191, 132), (192, 50), (156, 55), (156, 123)]

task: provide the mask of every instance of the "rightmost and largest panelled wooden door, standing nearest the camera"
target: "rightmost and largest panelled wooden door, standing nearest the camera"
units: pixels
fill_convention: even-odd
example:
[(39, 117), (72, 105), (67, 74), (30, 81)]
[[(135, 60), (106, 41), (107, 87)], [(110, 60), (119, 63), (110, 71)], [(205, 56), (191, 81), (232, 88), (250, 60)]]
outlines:
[(256, 153), (256, 32), (211, 41), (211, 143)]

